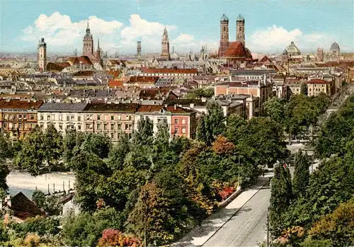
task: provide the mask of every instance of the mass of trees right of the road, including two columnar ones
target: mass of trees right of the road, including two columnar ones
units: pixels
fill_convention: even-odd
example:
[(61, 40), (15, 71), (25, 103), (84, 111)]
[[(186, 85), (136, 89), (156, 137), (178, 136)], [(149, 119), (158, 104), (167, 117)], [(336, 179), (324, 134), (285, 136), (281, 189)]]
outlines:
[(316, 140), (324, 158), (309, 175), (309, 159), (298, 154), (291, 180), (278, 166), (272, 180), (270, 226), (283, 245), (354, 244), (354, 96), (333, 113)]

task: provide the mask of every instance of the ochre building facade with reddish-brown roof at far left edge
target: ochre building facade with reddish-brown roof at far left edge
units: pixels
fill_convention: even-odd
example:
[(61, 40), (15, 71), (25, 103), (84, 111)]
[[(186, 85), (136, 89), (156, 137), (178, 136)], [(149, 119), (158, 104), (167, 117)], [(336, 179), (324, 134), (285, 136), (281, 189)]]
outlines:
[(22, 139), (38, 124), (42, 101), (0, 100), (0, 130), (11, 139)]

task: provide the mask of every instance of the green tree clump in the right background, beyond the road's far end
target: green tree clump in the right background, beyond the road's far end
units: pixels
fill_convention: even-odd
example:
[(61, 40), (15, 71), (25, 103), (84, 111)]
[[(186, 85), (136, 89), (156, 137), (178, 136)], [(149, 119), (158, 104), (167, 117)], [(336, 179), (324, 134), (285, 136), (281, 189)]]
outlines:
[(316, 97), (293, 95), (290, 100), (273, 97), (265, 103), (265, 114), (278, 122), (289, 136), (296, 137), (317, 124), (329, 103), (324, 93)]

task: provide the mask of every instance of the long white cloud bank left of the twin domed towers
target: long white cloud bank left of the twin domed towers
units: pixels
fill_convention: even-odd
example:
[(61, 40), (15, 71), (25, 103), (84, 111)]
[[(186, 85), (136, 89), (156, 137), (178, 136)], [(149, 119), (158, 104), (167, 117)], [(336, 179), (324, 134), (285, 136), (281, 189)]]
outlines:
[[(113, 54), (119, 50), (120, 54), (135, 53), (137, 40), (142, 41), (142, 52), (161, 52), (161, 38), (166, 27), (169, 32), (170, 47), (176, 52), (199, 52), (202, 45), (208, 50), (217, 50), (217, 42), (198, 41), (188, 33), (177, 33), (176, 25), (165, 25), (159, 22), (150, 22), (137, 14), (132, 14), (128, 25), (120, 21), (105, 21), (103, 18), (90, 16), (88, 18), (91, 33), (95, 41), (100, 39), (103, 50)], [(88, 20), (72, 21), (70, 16), (54, 12), (50, 16), (41, 14), (23, 30), (21, 40), (32, 43), (36, 47), (38, 40), (43, 37), (47, 42), (48, 52), (72, 53), (75, 48), (81, 52)], [(35, 48), (34, 48), (35, 49)]]

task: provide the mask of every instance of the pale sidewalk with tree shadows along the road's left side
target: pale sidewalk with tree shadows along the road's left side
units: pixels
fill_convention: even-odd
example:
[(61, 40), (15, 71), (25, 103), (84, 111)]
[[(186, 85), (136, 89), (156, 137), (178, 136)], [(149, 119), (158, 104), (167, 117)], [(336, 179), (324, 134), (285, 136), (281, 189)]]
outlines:
[(202, 246), (226, 222), (228, 222), (229, 219), (231, 219), (232, 216), (253, 197), (253, 195), (256, 195), (256, 193), (268, 183), (269, 178), (272, 176), (273, 173), (267, 173), (264, 178), (262, 176), (259, 177), (255, 185), (244, 190), (244, 192), (230, 202), (229, 205), (213, 213), (207, 219), (204, 219), (201, 226), (195, 226), (195, 228), (180, 241), (173, 243), (173, 246)]

